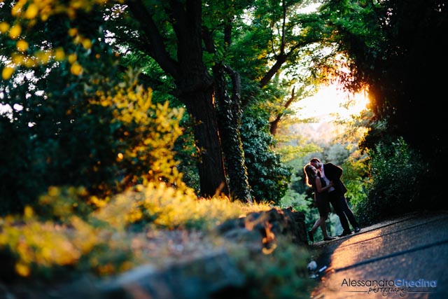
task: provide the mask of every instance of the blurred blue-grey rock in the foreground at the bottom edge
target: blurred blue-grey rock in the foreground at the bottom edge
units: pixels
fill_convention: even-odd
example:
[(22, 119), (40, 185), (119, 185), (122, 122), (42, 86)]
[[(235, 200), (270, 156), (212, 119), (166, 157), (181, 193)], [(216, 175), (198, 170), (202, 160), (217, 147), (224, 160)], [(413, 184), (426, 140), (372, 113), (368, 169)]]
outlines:
[(198, 260), (172, 265), (165, 270), (142, 266), (116, 279), (103, 282), (101, 298), (207, 299), (226, 288), (244, 285), (239, 272), (224, 251)]

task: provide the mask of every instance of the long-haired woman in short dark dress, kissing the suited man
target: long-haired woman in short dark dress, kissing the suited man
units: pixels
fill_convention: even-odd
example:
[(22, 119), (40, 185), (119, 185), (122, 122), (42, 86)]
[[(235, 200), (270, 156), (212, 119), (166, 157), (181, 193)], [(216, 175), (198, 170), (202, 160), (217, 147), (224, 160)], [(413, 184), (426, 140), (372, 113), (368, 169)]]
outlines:
[(328, 213), (330, 212), (330, 202), (328, 202), (328, 189), (331, 188), (332, 182), (325, 186), (325, 181), (321, 179), (317, 174), (317, 169), (311, 164), (307, 164), (303, 167), (305, 173), (305, 182), (314, 191), (314, 203), (319, 211), (319, 218), (316, 223), (314, 223), (311, 230), (308, 232), (308, 237), (311, 242), (314, 242), (314, 232), (316, 232), (318, 227), (321, 227), (323, 240), (330, 241), (335, 239), (335, 237), (330, 237), (327, 232), (327, 225), (325, 221), (328, 218)]

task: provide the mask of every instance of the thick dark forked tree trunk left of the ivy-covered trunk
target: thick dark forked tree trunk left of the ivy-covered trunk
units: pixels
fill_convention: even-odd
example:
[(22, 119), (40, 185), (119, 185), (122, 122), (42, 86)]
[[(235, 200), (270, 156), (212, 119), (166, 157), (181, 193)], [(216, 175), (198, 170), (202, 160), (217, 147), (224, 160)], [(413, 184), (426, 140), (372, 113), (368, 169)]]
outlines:
[[(143, 43), (142, 50), (174, 78), (176, 97), (193, 118), (196, 146), (200, 151), (200, 194), (204, 197), (228, 195), (213, 79), (203, 57), (202, 1), (154, 1), (152, 5), (145, 5), (144, 1), (130, 0), (127, 6), (138, 22), (136, 29), (139, 30), (138, 39)], [(166, 43), (167, 32), (162, 32), (163, 27), (158, 26), (160, 15), (157, 13), (167, 16), (176, 37), (174, 44)], [(167, 47), (175, 50), (170, 51)]]

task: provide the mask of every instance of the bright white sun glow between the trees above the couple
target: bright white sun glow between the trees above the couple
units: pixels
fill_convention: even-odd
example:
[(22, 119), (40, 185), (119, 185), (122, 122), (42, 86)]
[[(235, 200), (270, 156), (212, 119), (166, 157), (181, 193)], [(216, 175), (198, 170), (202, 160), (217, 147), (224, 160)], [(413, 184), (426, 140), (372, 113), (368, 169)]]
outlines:
[(298, 118), (317, 118), (322, 122), (358, 115), (367, 109), (368, 102), (366, 93), (352, 95), (337, 85), (329, 85), (321, 88), (316, 95), (297, 102), (293, 109), (297, 111)]

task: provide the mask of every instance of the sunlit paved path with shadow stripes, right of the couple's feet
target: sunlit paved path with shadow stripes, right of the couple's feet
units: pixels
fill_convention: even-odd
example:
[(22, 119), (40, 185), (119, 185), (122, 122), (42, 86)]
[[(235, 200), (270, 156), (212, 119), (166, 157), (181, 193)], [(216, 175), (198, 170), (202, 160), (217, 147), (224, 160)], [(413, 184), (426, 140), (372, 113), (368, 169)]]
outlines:
[(312, 299), (448, 298), (448, 211), (408, 214), (314, 244)]

